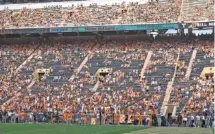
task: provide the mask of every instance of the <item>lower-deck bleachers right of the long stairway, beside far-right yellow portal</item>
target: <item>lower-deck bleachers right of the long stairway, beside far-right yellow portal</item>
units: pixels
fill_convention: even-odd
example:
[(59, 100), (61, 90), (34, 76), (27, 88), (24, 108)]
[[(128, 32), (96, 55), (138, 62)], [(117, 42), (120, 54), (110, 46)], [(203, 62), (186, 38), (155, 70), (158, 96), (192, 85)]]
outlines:
[[(201, 42), (203, 43), (203, 42)], [(199, 43), (199, 44), (201, 44)], [(207, 45), (202, 48), (198, 43), (196, 43), (197, 46), (194, 46), (198, 48), (198, 52), (196, 55), (196, 59), (193, 63), (192, 66), (192, 71), (191, 71), (191, 78), (190, 80), (187, 80), (185, 78), (180, 79), (180, 81), (175, 81), (174, 86), (173, 86), (173, 91), (171, 93), (171, 99), (170, 103), (176, 104), (179, 107), (177, 108), (176, 113), (180, 113), (183, 108), (185, 107), (186, 103), (188, 100), (190, 100), (190, 97), (193, 97), (195, 94), (194, 91), (196, 91), (197, 86), (201, 83), (199, 83), (199, 78), (202, 73), (202, 70), (204, 67), (212, 67), (213, 66), (213, 54), (210, 50), (212, 47), (210, 45), (210, 42), (207, 42)], [(192, 46), (192, 45), (191, 45)], [(190, 49), (191, 50), (191, 49)], [(190, 51), (188, 49), (189, 57), (190, 57)], [(184, 57), (188, 58), (188, 57)], [(182, 61), (186, 61), (186, 59), (182, 59)], [(187, 66), (189, 63), (185, 62), (185, 65)], [(183, 101), (182, 101), (183, 100)]]

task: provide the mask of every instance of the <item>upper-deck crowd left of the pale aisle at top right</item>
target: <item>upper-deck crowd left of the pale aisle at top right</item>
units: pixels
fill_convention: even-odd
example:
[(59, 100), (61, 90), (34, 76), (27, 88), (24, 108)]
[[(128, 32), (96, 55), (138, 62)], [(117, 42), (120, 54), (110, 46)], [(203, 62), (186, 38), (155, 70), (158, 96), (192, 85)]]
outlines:
[(51, 6), (43, 9), (0, 11), (1, 28), (89, 26), (177, 22), (180, 5), (173, 3), (121, 3), (72, 7)]

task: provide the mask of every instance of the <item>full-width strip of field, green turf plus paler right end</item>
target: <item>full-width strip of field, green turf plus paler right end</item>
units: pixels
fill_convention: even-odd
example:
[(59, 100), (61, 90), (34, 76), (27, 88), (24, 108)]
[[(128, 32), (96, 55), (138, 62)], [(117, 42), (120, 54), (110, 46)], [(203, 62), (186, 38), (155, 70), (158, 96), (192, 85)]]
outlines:
[(0, 124), (0, 134), (212, 134), (211, 128)]

